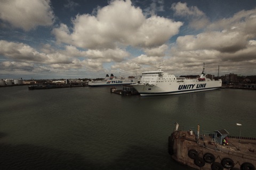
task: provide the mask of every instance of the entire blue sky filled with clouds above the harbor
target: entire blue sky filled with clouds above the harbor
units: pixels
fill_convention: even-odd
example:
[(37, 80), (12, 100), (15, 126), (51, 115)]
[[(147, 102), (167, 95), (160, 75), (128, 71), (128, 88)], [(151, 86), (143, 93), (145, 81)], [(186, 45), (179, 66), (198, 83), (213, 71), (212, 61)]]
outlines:
[(0, 0), (0, 79), (256, 75), (255, 0)]

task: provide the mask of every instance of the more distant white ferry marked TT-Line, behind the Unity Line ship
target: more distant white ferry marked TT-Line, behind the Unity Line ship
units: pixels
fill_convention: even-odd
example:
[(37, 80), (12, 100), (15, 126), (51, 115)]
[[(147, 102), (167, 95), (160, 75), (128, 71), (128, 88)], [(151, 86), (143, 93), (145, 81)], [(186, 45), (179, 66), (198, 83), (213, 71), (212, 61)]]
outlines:
[(107, 74), (105, 79), (103, 80), (92, 80), (88, 83), (88, 86), (97, 87), (97, 86), (113, 86), (113, 85), (125, 85), (125, 84), (135, 84), (138, 83), (139, 77), (137, 76), (129, 76), (129, 77), (116, 77), (113, 74)]

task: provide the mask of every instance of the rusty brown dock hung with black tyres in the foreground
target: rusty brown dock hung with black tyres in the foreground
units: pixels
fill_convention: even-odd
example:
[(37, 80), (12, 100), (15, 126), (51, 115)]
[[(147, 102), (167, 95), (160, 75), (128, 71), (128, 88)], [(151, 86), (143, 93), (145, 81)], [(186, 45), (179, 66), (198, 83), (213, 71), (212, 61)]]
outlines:
[(201, 170), (254, 169), (256, 139), (225, 135), (227, 143), (220, 143), (220, 131), (215, 134), (195, 134), (193, 131), (174, 131), (169, 136), (169, 154), (181, 164)]

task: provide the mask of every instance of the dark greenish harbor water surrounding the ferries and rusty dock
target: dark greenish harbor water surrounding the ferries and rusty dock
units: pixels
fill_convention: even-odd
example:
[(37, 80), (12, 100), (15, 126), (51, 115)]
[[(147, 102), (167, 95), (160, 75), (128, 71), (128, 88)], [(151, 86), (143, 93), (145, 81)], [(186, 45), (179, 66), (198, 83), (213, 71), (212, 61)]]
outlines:
[(168, 153), (175, 122), (256, 137), (255, 90), (140, 97), (14, 86), (0, 94), (0, 169), (188, 170)]

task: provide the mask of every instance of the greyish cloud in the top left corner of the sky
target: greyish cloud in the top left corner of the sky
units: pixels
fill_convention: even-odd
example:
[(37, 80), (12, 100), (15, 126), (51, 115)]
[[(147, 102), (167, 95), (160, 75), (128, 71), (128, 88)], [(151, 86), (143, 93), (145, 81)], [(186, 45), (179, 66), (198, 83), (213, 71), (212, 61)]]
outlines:
[(28, 31), (37, 26), (51, 26), (54, 14), (49, 0), (3, 0), (0, 2), (0, 19)]

